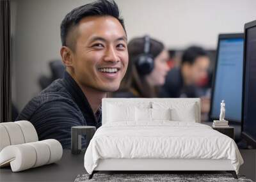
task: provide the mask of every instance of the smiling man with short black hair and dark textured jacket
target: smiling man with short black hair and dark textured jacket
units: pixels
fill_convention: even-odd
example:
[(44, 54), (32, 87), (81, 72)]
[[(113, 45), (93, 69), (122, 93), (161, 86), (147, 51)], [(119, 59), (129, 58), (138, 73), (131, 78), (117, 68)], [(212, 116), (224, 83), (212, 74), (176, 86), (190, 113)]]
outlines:
[(28, 120), (39, 140), (70, 148), (72, 126), (101, 126), (101, 100), (118, 89), (127, 64), (127, 35), (114, 1), (96, 1), (70, 11), (61, 22), (60, 54), (66, 66), (33, 98), (16, 120)]

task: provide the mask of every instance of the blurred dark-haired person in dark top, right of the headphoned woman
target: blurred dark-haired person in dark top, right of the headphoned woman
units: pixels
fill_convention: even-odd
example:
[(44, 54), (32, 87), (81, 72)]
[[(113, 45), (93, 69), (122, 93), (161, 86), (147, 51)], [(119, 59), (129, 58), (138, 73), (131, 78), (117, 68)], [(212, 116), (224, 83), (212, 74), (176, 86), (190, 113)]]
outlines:
[(184, 51), (179, 67), (166, 76), (160, 96), (166, 98), (196, 98), (196, 87), (207, 77), (210, 59), (202, 47), (192, 46)]

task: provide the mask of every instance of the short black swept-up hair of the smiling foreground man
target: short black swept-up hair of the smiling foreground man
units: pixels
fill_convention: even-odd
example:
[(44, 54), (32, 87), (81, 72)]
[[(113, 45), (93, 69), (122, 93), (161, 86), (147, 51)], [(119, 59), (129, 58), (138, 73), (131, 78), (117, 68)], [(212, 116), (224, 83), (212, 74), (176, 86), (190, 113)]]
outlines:
[[(111, 16), (115, 17), (125, 31), (124, 20), (120, 18), (120, 12), (115, 1), (98, 0), (93, 3), (79, 6), (74, 10), (70, 11), (61, 22), (60, 34), (61, 43), (63, 46), (67, 45), (67, 36), (72, 28), (76, 27), (81, 19), (84, 17), (92, 16)], [(126, 32), (125, 32), (126, 33)], [(70, 45), (71, 46), (71, 45)], [(70, 47), (71, 48), (71, 47)]]

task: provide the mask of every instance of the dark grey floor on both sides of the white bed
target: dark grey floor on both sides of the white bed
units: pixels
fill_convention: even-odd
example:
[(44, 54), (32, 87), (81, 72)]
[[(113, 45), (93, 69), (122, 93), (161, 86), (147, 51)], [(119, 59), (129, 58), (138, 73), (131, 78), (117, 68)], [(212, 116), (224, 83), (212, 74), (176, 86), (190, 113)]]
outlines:
[[(240, 150), (244, 164), (239, 174), (256, 180), (256, 150)], [(84, 169), (84, 152), (72, 155), (70, 150), (63, 150), (63, 156), (57, 163), (28, 169), (21, 172), (12, 172), (10, 167), (0, 168), (0, 181), (74, 181), (78, 174), (86, 173)], [(200, 173), (200, 172), (199, 172)]]

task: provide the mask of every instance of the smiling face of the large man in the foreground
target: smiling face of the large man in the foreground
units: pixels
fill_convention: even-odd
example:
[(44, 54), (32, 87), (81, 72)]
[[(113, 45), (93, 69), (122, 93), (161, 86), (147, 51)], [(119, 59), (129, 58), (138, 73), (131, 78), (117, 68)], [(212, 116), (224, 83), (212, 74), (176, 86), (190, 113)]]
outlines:
[(72, 70), (81, 86), (112, 92), (127, 70), (127, 37), (114, 17), (86, 17), (77, 27)]

